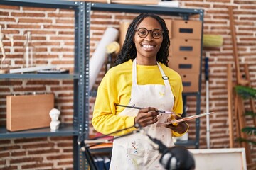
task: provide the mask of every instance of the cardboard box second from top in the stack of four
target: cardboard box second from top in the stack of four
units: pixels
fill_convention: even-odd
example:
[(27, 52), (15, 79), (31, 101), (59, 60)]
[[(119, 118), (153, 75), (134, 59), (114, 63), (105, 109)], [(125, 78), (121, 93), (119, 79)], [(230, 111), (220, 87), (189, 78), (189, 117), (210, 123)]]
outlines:
[(201, 40), (171, 39), (169, 55), (201, 56)]

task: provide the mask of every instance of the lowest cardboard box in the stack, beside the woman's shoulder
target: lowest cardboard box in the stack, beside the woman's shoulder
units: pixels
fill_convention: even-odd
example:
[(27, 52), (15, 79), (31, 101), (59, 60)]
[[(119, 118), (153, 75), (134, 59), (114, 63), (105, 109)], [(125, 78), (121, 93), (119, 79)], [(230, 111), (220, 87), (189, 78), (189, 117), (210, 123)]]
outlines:
[(197, 92), (200, 74), (181, 74), (183, 92)]

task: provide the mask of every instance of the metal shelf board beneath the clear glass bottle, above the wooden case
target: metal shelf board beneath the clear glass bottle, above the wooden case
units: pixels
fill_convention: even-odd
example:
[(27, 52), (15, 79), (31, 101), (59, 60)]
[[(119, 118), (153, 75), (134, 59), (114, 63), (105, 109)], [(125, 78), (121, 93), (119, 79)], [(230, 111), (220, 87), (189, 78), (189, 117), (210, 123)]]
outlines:
[(78, 79), (78, 74), (0, 74), (0, 79)]

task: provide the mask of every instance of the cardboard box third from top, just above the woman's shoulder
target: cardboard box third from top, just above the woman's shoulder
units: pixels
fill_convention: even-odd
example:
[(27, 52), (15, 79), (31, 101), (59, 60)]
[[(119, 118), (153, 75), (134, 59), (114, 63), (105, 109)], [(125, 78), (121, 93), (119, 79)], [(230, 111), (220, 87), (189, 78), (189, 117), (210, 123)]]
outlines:
[(200, 72), (200, 56), (169, 56), (168, 65), (178, 73), (194, 73)]

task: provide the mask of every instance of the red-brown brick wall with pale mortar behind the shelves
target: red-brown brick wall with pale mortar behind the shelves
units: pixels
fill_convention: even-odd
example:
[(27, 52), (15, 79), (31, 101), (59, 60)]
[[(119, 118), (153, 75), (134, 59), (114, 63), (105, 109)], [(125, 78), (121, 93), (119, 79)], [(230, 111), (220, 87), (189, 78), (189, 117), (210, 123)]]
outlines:
[[(240, 63), (249, 64), (252, 86), (256, 88), (256, 2), (235, 0), (191, 0), (181, 1), (184, 8), (203, 8), (204, 33), (223, 37), (221, 47), (204, 47), (203, 57), (209, 57), (210, 68), (210, 147), (229, 147), (228, 95), (226, 90), (226, 64), (233, 64), (233, 47), (229, 28), (228, 8), (234, 6), (235, 30), (238, 40)], [(91, 21), (90, 55), (100, 42), (107, 26), (119, 28), (119, 21), (131, 21), (137, 14), (93, 11)], [(170, 18), (169, 16), (163, 16)], [(37, 64), (57, 64), (58, 67), (73, 71), (74, 26), (73, 11), (0, 6), (2, 33), (14, 37), (14, 47), (4, 38), (6, 57), (11, 66), (22, 62), (24, 33), (31, 30), (33, 42), (38, 52)], [(204, 68), (202, 68), (204, 69)], [(104, 76), (104, 68), (97, 77), (95, 89)], [(234, 80), (235, 80), (235, 71)], [(6, 121), (6, 95), (23, 91), (55, 93), (55, 108), (61, 111), (60, 120), (72, 123), (73, 120), (73, 81), (68, 80), (1, 80), (0, 81), (0, 124)], [(206, 112), (206, 86), (202, 75), (201, 113)], [(90, 98), (92, 113), (94, 97)], [(196, 98), (188, 98), (188, 115), (196, 111)], [(248, 123), (252, 121), (247, 120)], [(191, 121), (189, 137), (195, 137), (194, 122)], [(90, 133), (95, 131), (90, 128)], [(206, 148), (206, 118), (201, 118), (200, 148)], [(254, 139), (255, 140), (255, 139)], [(73, 169), (72, 137), (39, 137), (26, 139), (0, 140), (0, 169)], [(256, 148), (251, 147), (252, 158), (256, 161)], [(40, 154), (38, 154), (40, 153)]]

